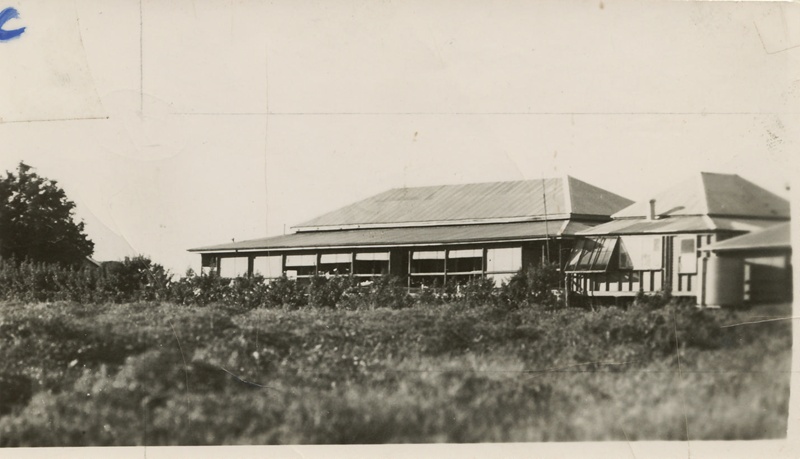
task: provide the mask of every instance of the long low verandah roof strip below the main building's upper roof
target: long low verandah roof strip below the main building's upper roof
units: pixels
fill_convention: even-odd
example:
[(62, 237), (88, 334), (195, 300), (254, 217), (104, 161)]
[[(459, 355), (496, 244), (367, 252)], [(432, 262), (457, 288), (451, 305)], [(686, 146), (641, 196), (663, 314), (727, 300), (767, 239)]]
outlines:
[(285, 236), (200, 247), (190, 249), (190, 252), (400, 246), (526, 240), (543, 238), (545, 234), (549, 234), (552, 237), (574, 235), (575, 232), (583, 229), (585, 226), (587, 226), (585, 223), (561, 220), (548, 222), (494, 223), (486, 225), (309, 231)]

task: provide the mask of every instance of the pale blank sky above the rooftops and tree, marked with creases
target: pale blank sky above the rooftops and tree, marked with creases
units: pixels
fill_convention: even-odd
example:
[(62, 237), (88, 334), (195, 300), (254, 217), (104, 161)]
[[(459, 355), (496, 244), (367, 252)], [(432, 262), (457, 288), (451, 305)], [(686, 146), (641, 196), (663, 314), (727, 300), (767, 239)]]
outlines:
[(642, 199), (705, 170), (786, 195), (797, 173), (786, 3), (7, 6), (27, 29), (0, 42), (0, 171), (58, 180), (99, 260), (182, 274), (188, 248), (400, 186), (569, 174)]

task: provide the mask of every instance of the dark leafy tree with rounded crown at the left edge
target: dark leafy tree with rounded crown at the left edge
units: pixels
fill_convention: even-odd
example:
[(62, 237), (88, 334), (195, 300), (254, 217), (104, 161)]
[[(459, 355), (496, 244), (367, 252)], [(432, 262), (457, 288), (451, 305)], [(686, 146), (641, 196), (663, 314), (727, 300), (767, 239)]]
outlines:
[(0, 257), (75, 265), (94, 251), (75, 203), (23, 162), (0, 177)]

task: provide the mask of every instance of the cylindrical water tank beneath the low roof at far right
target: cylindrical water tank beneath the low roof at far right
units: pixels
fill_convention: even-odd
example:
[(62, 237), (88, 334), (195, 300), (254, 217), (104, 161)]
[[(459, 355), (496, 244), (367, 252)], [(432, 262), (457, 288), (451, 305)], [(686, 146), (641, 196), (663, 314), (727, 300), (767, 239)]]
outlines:
[(705, 261), (706, 306), (740, 306), (744, 302), (744, 260), (711, 257)]

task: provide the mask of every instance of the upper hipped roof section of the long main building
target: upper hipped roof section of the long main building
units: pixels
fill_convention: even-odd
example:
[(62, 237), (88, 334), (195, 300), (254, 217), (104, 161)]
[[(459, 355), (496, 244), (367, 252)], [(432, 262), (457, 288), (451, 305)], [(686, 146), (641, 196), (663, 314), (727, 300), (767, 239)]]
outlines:
[(294, 228), (303, 232), (608, 217), (631, 203), (573, 177), (395, 188)]

